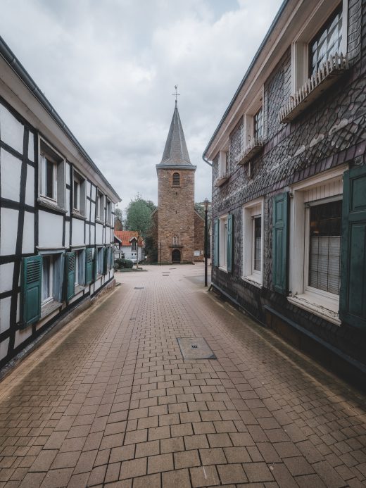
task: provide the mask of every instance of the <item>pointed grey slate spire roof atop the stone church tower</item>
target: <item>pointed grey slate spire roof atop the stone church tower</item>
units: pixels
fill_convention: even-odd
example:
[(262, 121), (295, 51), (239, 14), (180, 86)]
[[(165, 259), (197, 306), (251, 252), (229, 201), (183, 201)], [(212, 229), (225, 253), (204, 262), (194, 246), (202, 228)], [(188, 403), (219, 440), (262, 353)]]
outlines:
[(167, 142), (165, 142), (163, 158), (161, 158), (161, 161), (157, 166), (189, 166), (192, 169), (195, 168), (189, 159), (177, 102), (175, 102), (175, 109), (172, 123), (170, 124), (168, 139)]

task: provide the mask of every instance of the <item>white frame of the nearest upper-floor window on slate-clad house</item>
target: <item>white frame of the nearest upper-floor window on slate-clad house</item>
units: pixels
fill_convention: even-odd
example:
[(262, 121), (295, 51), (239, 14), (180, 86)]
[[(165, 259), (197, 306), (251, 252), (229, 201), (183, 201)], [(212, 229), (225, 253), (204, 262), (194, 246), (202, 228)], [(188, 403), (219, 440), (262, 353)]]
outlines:
[[(347, 52), (348, 0), (342, 0), (342, 41), (341, 52)], [(291, 44), (291, 93), (300, 89), (309, 78), (309, 44), (327, 19), (336, 10), (334, 0), (319, 1), (310, 15), (304, 18), (301, 29)]]

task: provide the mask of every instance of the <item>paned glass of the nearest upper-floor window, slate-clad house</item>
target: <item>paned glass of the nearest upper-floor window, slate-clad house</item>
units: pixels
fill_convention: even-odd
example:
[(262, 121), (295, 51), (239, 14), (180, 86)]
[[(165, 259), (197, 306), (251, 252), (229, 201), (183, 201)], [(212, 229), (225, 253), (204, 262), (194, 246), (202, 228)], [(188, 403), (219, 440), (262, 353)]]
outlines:
[(315, 75), (329, 57), (340, 54), (341, 41), (342, 11), (338, 8), (310, 43), (310, 76)]

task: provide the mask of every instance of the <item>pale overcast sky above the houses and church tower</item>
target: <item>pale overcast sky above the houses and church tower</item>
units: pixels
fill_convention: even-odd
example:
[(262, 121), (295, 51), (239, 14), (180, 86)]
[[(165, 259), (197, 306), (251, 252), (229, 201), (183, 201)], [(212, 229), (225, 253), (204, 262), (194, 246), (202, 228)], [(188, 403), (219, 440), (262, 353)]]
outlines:
[(282, 0), (1, 0), (0, 35), (122, 198), (157, 203), (178, 85), (201, 156)]

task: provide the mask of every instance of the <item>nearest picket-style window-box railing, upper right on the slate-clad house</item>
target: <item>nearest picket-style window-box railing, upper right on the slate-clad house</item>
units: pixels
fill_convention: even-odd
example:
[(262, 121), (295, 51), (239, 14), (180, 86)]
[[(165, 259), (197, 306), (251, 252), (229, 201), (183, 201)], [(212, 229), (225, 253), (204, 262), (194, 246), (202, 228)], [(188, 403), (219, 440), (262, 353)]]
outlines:
[(348, 59), (343, 54), (335, 54), (323, 63), (317, 73), (296, 92), (279, 111), (279, 122), (286, 124), (294, 120), (310, 104), (318, 99), (325, 90), (348, 70)]

